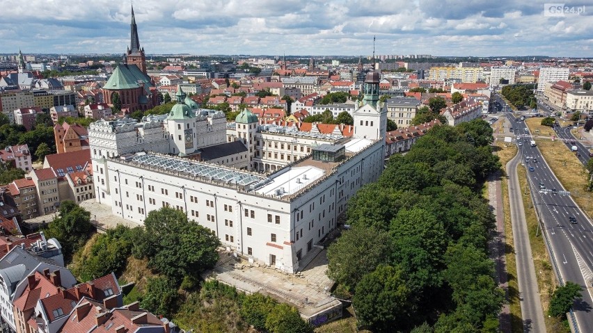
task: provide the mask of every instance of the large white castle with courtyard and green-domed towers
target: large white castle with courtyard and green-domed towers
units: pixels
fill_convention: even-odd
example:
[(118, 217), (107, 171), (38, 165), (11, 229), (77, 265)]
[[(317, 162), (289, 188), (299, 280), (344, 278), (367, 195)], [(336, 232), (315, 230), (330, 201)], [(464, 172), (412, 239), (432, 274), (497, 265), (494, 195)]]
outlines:
[[(374, 76), (365, 85), (378, 93)], [(297, 272), (384, 168), (387, 114), (377, 100), (365, 99), (345, 137), (260, 125), (249, 111), (227, 124), (180, 90), (168, 115), (90, 124), (97, 201), (140, 224), (171, 206), (237, 254)]]

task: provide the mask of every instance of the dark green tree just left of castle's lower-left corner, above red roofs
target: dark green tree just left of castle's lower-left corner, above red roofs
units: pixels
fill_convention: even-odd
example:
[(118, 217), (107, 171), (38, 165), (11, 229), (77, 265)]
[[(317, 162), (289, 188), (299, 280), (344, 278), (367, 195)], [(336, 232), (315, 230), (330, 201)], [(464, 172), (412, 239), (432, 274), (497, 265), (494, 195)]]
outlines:
[(61, 202), (58, 216), (42, 228), (47, 238), (56, 238), (62, 245), (64, 261), (69, 262), (72, 254), (86, 243), (93, 232), (90, 213), (76, 202)]

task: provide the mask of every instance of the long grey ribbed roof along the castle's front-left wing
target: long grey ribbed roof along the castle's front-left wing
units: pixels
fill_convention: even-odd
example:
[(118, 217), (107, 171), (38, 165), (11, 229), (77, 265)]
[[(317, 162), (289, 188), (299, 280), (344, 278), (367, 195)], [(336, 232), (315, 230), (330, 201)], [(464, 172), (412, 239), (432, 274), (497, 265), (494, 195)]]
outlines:
[(226, 181), (230, 184), (248, 185), (257, 181), (262, 181), (264, 177), (247, 172), (239, 172), (214, 165), (205, 165), (196, 162), (189, 162), (180, 159), (174, 159), (168, 156), (159, 156), (154, 154), (145, 154), (134, 156), (132, 161), (145, 165), (157, 166), (166, 170), (175, 170), (186, 172), (193, 176), (208, 177), (211, 179)]

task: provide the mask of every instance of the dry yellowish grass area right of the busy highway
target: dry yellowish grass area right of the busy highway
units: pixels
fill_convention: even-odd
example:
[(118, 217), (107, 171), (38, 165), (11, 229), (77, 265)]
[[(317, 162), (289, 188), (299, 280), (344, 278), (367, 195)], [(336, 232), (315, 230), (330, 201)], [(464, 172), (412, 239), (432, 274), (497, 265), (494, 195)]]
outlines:
[[(541, 120), (529, 118), (526, 121), (529, 129), (535, 129)], [(536, 138), (535, 142), (550, 165), (552, 172), (558, 177), (560, 183), (569, 190), (571, 197), (588, 216), (593, 216), (593, 193), (587, 191), (588, 172), (585, 166), (578, 161), (561, 141)]]

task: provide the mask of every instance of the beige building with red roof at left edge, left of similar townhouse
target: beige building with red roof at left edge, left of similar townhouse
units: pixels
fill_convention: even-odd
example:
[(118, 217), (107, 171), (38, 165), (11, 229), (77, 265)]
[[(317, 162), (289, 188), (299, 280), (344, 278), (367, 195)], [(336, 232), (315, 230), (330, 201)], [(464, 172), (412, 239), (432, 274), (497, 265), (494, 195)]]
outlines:
[(38, 204), (37, 186), (33, 179), (15, 179), (7, 188), (8, 191), (3, 193), (4, 201), (16, 207), (24, 220), (42, 215)]

